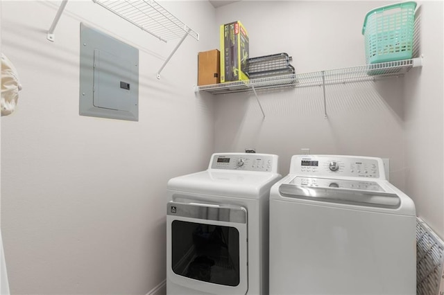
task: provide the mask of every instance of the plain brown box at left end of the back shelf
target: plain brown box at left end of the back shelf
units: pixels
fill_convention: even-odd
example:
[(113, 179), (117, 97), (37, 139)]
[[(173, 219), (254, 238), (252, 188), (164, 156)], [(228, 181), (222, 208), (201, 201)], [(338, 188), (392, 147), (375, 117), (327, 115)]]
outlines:
[(198, 53), (198, 86), (221, 82), (220, 56), (217, 49)]

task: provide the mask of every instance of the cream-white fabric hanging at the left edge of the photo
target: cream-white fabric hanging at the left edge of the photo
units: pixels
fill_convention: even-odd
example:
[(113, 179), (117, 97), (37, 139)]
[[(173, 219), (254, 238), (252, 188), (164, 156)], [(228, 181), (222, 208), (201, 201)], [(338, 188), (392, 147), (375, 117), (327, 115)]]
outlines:
[(1, 116), (12, 114), (19, 100), (22, 85), (14, 64), (1, 53)]

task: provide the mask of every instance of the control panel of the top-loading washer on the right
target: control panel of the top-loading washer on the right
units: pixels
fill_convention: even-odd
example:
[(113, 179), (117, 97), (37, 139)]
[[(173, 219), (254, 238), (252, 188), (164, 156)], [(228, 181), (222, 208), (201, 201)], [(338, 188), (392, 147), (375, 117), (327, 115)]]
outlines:
[(336, 155), (295, 155), (291, 157), (290, 174), (386, 179), (382, 159)]

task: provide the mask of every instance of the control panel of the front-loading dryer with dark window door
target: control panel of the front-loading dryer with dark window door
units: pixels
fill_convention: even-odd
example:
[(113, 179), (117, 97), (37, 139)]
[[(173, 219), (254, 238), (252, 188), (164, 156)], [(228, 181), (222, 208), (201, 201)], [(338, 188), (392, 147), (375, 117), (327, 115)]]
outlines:
[(278, 156), (255, 153), (213, 154), (210, 169), (278, 172)]

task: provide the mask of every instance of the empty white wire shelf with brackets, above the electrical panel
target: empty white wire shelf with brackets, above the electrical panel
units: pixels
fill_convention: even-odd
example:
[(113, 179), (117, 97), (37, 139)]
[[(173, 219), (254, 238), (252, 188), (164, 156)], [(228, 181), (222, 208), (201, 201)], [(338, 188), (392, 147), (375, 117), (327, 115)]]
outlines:
[[(164, 64), (157, 71), (157, 79), (160, 79), (160, 72), (167, 65), (171, 57), (176, 53), (182, 42), (187, 36), (191, 36), (199, 40), (199, 34), (192, 30), (186, 24), (182, 23), (178, 18), (172, 15), (168, 10), (160, 6), (154, 0), (92, 0), (103, 8), (109, 10), (115, 15), (125, 19), (137, 28), (144, 30), (146, 33), (153, 35), (162, 42), (168, 42), (171, 39), (178, 39), (180, 41), (173, 49)], [(46, 39), (53, 42), (55, 35), (54, 30), (58, 21), (65, 10), (68, 0), (63, 0), (58, 8), (56, 17), (51, 24)]]

